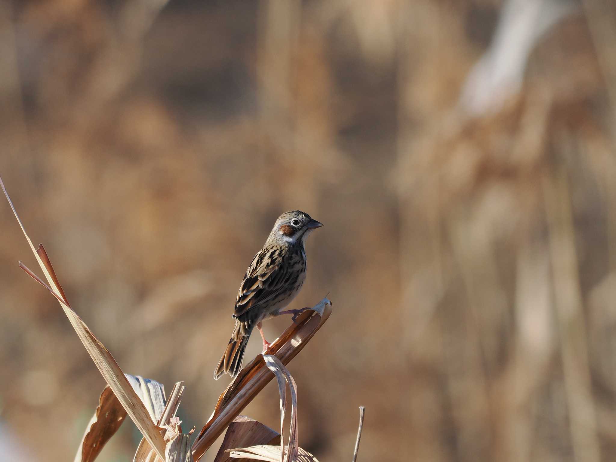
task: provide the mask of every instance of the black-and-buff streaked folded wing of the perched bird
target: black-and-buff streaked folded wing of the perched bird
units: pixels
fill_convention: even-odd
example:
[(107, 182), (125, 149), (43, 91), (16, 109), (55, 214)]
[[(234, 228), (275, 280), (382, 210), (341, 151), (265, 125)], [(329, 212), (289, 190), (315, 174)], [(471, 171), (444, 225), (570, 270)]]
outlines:
[(254, 256), (240, 285), (233, 315), (262, 306), (285, 288), (287, 270), (282, 265), (282, 249), (264, 248)]

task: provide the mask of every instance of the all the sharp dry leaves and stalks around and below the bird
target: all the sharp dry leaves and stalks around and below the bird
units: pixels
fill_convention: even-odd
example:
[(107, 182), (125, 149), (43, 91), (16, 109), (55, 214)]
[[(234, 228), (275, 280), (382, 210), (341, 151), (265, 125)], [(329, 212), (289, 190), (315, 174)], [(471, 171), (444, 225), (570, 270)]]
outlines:
[[(225, 446), (223, 444), (214, 461), (221, 462), (230, 457), (258, 458), (259, 460), (269, 462), (278, 462), (278, 460), (280, 462), (318, 462), (312, 454), (299, 447), (298, 388), (283, 363), (288, 363), (293, 359), (327, 318), (330, 317), (331, 302), (328, 299), (324, 298), (312, 309), (316, 316), (308, 312), (300, 315), (294, 320), (293, 325), (280, 338), (274, 341), (268, 349), (268, 354), (257, 356), (238, 373), (224, 394), (221, 395), (208, 422), (203, 426), (198, 436), (193, 439), (193, 442), (190, 443), (190, 436), (195, 431), (195, 428), (184, 434), (180, 425), (181, 421), (176, 416), (182, 399), (182, 393), (185, 389), (184, 382), (176, 382), (169, 395), (169, 399), (167, 399), (162, 384), (150, 379), (144, 379), (141, 376), (123, 373), (111, 353), (71, 308), (43, 245), (39, 245), (36, 249), (34, 248), (17, 214), (17, 210), (9, 198), (1, 177), (0, 187), (7, 201), (9, 201), (10, 208), (15, 214), (15, 218), (47, 282), (41, 280), (22, 262), (19, 264), (20, 267), (26, 274), (30, 275), (36, 282), (51, 292), (60, 302), (60, 307), (64, 310), (83, 346), (107, 382), (107, 386), (100, 395), (99, 407), (97, 407), (94, 416), (86, 426), (86, 432), (75, 455), (75, 462), (94, 462), (108, 440), (118, 431), (127, 415), (143, 435), (133, 462), (198, 461), (230, 424), (239, 424), (245, 421), (243, 416), (238, 420), (238, 415), (263, 389), (265, 384), (272, 379), (272, 376), (267, 373), (268, 369), (274, 373), (278, 381), (278, 392), (280, 393), (280, 434), (276, 434), (270, 440), (262, 441), (261, 433), (271, 434), (272, 431), (256, 421), (253, 421), (254, 425), (248, 428), (245, 426), (230, 428), (230, 438), (226, 443), (230, 444), (233, 438), (239, 438), (243, 445), (248, 447)], [(181, 357), (179, 360), (181, 360)], [(290, 399), (287, 398), (286, 394), (287, 384), (290, 389)], [(45, 387), (46, 384), (41, 383), (39, 386)], [(289, 401), (291, 423), (288, 444), (285, 446), (284, 424), (287, 403)], [(362, 423), (363, 408), (354, 458), (357, 456)], [(257, 432), (255, 432), (255, 426)], [(276, 438), (280, 440), (280, 447), (272, 445)], [(263, 443), (265, 442), (268, 444), (264, 445)], [(229, 453), (228, 456), (227, 453)]]

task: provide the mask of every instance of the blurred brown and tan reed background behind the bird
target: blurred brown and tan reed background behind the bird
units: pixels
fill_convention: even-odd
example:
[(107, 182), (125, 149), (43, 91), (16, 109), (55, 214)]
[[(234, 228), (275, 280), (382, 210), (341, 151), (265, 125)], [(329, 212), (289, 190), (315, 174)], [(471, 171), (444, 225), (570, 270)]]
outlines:
[[(615, 11), (5, 0), (0, 173), (124, 371), (186, 382), (185, 428), (229, 382), (246, 265), (301, 209), (325, 227), (291, 307), (334, 302), (290, 363), (302, 447), (351, 460), (365, 405), (363, 461), (612, 460)], [(72, 460), (103, 379), (0, 216), (0, 442)], [(278, 429), (277, 389), (245, 413)], [(132, 460), (131, 426), (99, 460)]]

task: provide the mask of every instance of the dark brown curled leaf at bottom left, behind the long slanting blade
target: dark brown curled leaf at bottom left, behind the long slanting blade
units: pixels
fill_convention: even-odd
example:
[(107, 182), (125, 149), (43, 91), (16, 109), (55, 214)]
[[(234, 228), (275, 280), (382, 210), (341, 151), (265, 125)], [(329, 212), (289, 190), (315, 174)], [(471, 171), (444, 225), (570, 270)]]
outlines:
[(86, 432), (75, 455), (75, 462), (94, 462), (125, 418), (126, 410), (110, 387), (106, 386), (100, 394), (99, 406), (86, 426)]

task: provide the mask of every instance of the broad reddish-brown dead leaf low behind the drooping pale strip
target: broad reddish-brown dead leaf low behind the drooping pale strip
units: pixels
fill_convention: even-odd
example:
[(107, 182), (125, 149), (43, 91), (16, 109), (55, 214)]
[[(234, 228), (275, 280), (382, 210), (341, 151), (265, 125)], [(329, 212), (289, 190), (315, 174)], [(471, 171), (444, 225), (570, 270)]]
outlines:
[(214, 462), (229, 461), (230, 455), (225, 449), (263, 444), (280, 444), (280, 434), (248, 416), (238, 415), (227, 428)]

